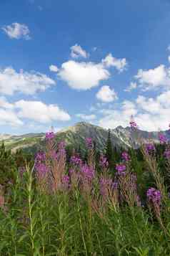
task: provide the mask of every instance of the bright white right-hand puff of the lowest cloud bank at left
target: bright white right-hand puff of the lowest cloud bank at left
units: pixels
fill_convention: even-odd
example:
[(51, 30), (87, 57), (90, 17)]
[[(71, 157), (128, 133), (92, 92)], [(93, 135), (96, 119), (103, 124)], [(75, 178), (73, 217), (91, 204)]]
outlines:
[(71, 117), (66, 111), (58, 107), (58, 105), (46, 105), (41, 101), (19, 100), (15, 104), (19, 110), (20, 118), (28, 118), (39, 123), (49, 123), (53, 120), (66, 121)]

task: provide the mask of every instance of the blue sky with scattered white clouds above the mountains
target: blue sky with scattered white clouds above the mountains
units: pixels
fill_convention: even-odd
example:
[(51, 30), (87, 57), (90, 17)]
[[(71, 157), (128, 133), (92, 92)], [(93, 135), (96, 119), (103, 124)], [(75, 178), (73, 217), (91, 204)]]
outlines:
[(0, 3), (0, 133), (170, 123), (170, 0)]

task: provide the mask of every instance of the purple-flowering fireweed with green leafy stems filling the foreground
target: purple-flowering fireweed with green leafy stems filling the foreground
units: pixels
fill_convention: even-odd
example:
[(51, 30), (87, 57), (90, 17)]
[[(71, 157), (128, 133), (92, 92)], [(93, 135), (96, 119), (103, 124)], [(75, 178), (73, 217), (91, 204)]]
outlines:
[[(170, 191), (154, 143), (139, 149), (142, 162), (123, 151), (109, 170), (104, 152), (96, 164), (92, 138), (87, 161), (74, 151), (68, 163), (55, 137), (46, 133), (45, 150), (15, 172), (8, 191), (0, 186), (0, 255), (170, 255)], [(169, 141), (159, 140), (170, 176)]]

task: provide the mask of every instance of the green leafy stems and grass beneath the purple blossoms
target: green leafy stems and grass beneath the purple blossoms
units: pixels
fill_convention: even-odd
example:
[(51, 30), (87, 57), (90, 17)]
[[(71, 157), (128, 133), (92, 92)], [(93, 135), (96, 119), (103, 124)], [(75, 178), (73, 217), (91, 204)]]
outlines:
[[(23, 176), (16, 173), (7, 194), (1, 189), (0, 199), (4, 196), (5, 203), (0, 200), (0, 255), (170, 255), (169, 195), (154, 156), (144, 157), (154, 186), (161, 191), (159, 209), (146, 198), (136, 204), (136, 190), (125, 180), (119, 180), (117, 190), (107, 185), (106, 194), (101, 194), (101, 177), (111, 177), (106, 169), (87, 179), (81, 167), (74, 166), (71, 175), (75, 176), (67, 186), (59, 180), (65, 166), (63, 148), (58, 149), (57, 160), (52, 159), (49, 152), (54, 145), (50, 143), (45, 159), (49, 172), (40, 176), (36, 166), (27, 165)], [(93, 159), (93, 153), (90, 149), (89, 158)], [(68, 169), (66, 166), (62, 174), (68, 175)], [(126, 171), (131, 174), (130, 166)], [(133, 171), (140, 177), (138, 170)]]

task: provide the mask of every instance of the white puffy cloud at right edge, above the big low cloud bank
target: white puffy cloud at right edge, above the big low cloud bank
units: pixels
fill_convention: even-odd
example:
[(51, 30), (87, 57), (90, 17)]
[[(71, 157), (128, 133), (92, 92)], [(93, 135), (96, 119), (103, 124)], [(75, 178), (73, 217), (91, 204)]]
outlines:
[(138, 70), (135, 76), (139, 81), (139, 85), (144, 90), (156, 89), (159, 87), (170, 87), (170, 69), (164, 65), (159, 65), (152, 70)]

